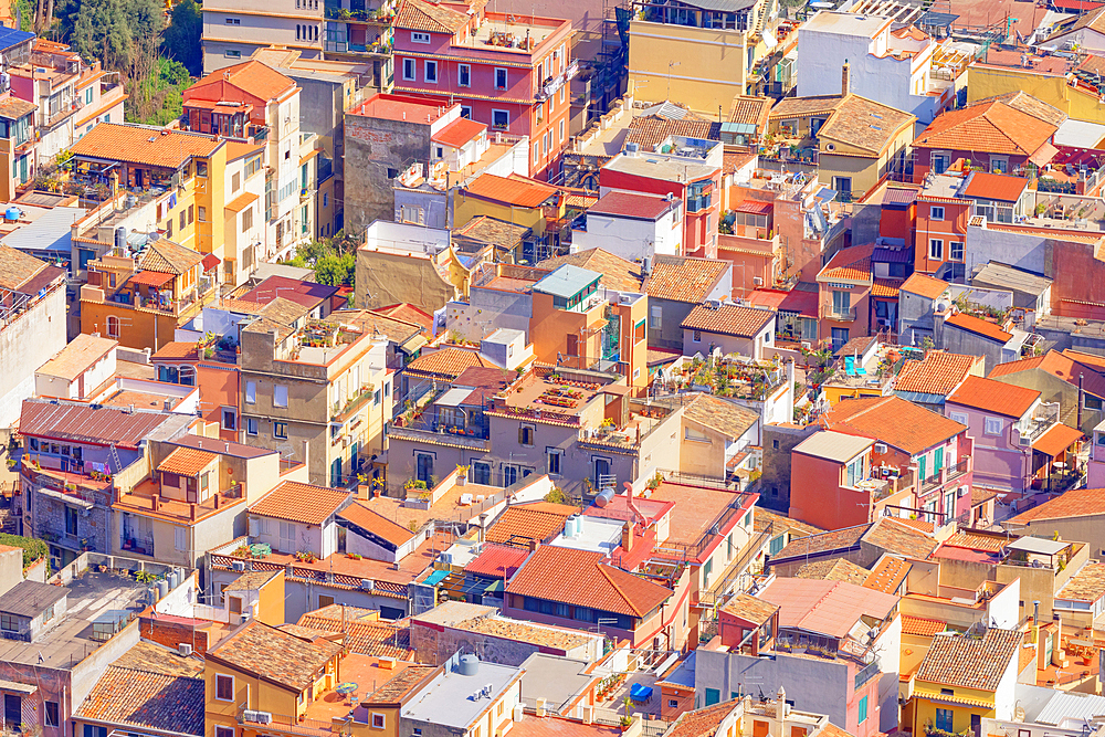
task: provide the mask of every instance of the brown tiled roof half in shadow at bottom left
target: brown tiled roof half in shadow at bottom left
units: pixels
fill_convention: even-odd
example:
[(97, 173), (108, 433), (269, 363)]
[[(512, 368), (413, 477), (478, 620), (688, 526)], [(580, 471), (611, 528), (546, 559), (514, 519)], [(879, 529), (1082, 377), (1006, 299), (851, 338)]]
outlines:
[(108, 665), (73, 717), (201, 736), (203, 709), (202, 677)]

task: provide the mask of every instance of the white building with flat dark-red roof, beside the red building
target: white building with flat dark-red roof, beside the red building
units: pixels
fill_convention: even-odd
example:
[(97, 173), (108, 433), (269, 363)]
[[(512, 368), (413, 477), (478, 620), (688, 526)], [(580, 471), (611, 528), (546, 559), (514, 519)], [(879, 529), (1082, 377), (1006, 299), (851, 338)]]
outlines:
[(628, 261), (682, 254), (683, 202), (674, 197), (609, 191), (571, 234), (572, 251), (603, 249)]

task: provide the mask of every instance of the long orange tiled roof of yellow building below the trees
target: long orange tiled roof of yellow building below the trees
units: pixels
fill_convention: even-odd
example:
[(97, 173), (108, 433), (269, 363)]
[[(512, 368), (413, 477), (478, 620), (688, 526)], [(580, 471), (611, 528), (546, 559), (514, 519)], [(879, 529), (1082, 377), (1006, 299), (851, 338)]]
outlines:
[(212, 136), (101, 123), (73, 144), (74, 156), (177, 169), (193, 156), (211, 156), (222, 143)]

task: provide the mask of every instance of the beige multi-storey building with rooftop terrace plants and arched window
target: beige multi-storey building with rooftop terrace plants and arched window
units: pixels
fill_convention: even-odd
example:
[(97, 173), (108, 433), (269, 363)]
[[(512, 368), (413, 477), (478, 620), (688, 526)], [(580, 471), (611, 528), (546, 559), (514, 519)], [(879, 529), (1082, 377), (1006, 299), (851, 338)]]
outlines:
[(336, 317), (293, 326), (259, 317), (242, 329), (246, 442), (307, 464), (312, 483), (343, 486), (383, 451), (392, 415), (387, 336)]

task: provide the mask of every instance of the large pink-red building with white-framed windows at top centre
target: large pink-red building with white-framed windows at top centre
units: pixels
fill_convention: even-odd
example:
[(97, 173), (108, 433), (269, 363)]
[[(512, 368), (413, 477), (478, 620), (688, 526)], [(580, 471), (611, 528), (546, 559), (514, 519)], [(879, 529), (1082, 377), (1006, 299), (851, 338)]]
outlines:
[(529, 176), (559, 170), (568, 140), (571, 21), (403, 0), (394, 23), (396, 92), (443, 104), (492, 134), (529, 137)]

